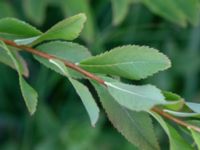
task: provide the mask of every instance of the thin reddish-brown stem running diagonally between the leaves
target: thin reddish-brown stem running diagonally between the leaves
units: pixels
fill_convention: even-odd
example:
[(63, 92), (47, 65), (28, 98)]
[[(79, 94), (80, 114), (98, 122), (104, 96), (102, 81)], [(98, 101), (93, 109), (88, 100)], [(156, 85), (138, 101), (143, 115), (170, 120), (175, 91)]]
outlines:
[[(32, 47), (28, 47), (28, 46), (25, 46), (25, 45), (17, 45), (15, 42), (13, 42), (11, 40), (7, 40), (7, 39), (3, 39), (3, 38), (0, 38), (0, 40), (3, 41), (4, 43), (6, 43), (7, 45), (22, 49), (22, 50), (27, 51), (27, 52), (29, 52), (31, 54), (40, 56), (40, 57), (48, 59), (48, 60), (49, 59), (58, 59), (58, 60), (62, 61), (67, 67), (69, 67), (69, 68), (71, 68), (73, 70), (76, 70), (77, 72), (85, 75), (86, 77), (88, 77), (88, 78), (90, 78), (92, 80), (95, 80), (99, 84), (104, 85), (105, 87), (107, 87), (106, 84), (105, 84), (105, 81), (103, 79), (99, 78), (98, 76), (96, 76), (96, 75), (94, 75), (94, 74), (92, 74), (90, 72), (87, 72), (86, 70), (80, 68), (79, 66), (75, 65), (74, 63), (72, 63), (70, 61), (57, 58), (56, 56), (53, 56), (53, 55), (38, 51), (37, 49), (34, 49)], [(175, 122), (175, 123), (177, 123), (177, 124), (179, 124), (181, 126), (184, 126), (184, 127), (188, 128), (188, 129), (193, 129), (193, 130), (195, 130), (197, 132), (200, 132), (200, 128), (198, 128), (196, 126), (193, 126), (193, 125), (190, 125), (190, 124), (182, 121), (181, 119), (176, 118), (176, 117), (174, 117), (174, 116), (162, 111), (159, 108), (155, 108), (154, 107), (151, 110), (156, 112), (156, 113), (158, 113), (158, 114), (160, 114), (161, 116), (163, 116), (163, 117), (165, 117), (165, 118), (167, 118), (169, 120), (172, 120), (173, 122)]]

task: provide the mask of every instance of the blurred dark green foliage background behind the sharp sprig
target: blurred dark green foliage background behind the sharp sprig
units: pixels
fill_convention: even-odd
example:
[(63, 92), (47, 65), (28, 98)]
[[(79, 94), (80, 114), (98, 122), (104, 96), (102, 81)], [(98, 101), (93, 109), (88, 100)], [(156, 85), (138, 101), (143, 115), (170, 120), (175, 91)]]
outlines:
[[(88, 20), (75, 42), (88, 47), (94, 55), (126, 44), (157, 48), (169, 56), (172, 68), (144, 81), (129, 82), (152, 83), (180, 94), (186, 101), (200, 102), (200, 1), (193, 0), (196, 3), (192, 6), (186, 4), (183, 13), (191, 14), (188, 21), (181, 19), (178, 12), (173, 14), (178, 10), (175, 4), (167, 8), (163, 1), (166, 6), (160, 5), (162, 11), (157, 12), (148, 0), (141, 1), (0, 0), (0, 18), (16, 17), (46, 31), (58, 21), (84, 12)], [(97, 126), (91, 127), (70, 83), (30, 55), (22, 54), (30, 68), (28, 81), (39, 93), (39, 105), (30, 117), (17, 73), (0, 64), (0, 150), (136, 149), (112, 127), (103, 109)], [(156, 132), (162, 147), (168, 149), (166, 136), (159, 128)]]

